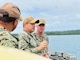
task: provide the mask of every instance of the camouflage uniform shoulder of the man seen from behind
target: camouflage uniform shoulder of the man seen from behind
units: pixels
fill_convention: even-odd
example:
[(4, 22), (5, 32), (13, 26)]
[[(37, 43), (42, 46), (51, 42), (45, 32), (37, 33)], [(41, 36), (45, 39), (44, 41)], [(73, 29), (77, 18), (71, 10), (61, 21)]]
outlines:
[(17, 48), (17, 41), (17, 38), (12, 36), (4, 27), (0, 26), (0, 45)]

